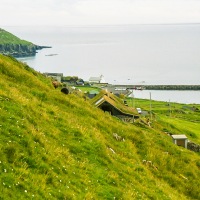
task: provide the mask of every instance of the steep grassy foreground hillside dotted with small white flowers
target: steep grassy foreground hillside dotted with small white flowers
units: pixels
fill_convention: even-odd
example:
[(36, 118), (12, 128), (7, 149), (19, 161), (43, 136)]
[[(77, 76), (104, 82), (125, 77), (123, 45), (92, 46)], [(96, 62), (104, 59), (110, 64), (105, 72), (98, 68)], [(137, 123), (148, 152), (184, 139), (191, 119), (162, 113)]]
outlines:
[(168, 118), (122, 123), (2, 55), (0, 76), (0, 199), (200, 198), (200, 155)]

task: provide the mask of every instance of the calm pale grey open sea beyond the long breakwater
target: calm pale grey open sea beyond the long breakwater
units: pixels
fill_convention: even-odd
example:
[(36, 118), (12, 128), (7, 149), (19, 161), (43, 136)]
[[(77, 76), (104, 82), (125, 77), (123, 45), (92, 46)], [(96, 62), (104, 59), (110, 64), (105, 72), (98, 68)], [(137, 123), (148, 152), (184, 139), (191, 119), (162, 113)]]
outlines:
[(86, 81), (102, 74), (116, 84), (200, 84), (200, 24), (2, 28), (52, 46), (20, 59), (40, 72)]

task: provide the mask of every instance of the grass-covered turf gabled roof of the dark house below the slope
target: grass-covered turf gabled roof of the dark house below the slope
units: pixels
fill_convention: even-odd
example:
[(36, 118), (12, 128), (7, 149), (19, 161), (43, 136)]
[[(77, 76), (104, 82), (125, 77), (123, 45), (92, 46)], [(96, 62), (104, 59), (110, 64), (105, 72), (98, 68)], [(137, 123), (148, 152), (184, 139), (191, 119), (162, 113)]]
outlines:
[(91, 100), (91, 103), (96, 107), (101, 106), (104, 102), (108, 102), (111, 106), (113, 106), (115, 109), (119, 110), (125, 115), (139, 116), (136, 109), (125, 106), (120, 98), (107, 91), (101, 91), (96, 97)]

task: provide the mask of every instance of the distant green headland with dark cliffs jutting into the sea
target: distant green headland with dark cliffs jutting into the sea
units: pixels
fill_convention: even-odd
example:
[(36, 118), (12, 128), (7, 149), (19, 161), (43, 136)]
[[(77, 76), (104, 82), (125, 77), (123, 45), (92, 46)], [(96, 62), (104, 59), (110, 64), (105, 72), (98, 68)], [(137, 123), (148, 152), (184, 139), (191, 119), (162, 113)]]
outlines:
[(34, 56), (37, 50), (49, 48), (21, 40), (0, 28), (0, 53), (14, 57)]

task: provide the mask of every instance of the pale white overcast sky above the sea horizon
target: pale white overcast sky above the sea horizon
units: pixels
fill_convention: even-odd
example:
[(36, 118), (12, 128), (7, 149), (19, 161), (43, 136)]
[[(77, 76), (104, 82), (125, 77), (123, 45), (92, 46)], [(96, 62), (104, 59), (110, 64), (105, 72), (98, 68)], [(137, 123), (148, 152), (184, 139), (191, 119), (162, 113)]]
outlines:
[(200, 23), (200, 0), (0, 0), (0, 26)]

